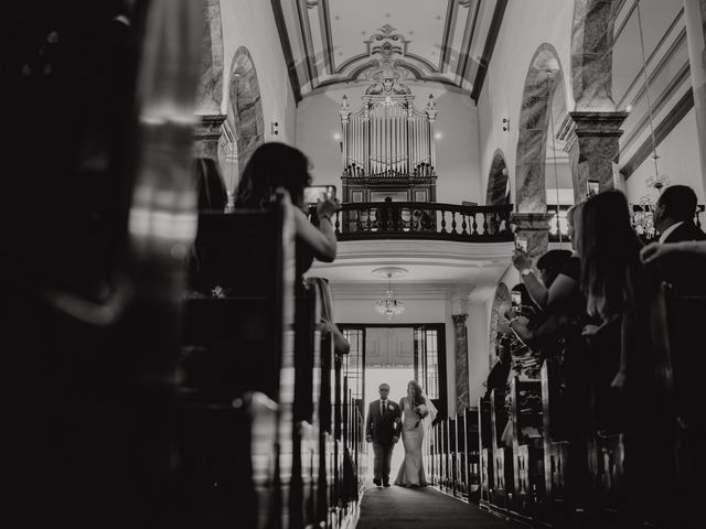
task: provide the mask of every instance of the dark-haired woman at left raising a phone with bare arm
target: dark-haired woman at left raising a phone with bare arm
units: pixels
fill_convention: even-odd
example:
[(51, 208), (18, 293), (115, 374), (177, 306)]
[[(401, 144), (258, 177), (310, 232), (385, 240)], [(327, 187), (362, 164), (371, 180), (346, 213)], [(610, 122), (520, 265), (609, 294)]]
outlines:
[(272, 194), (284, 188), (295, 207), (297, 230), (297, 276), (306, 272), (313, 259), (331, 262), (335, 259), (336, 238), (331, 217), (341, 206), (330, 198), (317, 204), (318, 226), (306, 215), (304, 188), (311, 185), (309, 160), (299, 149), (270, 142), (258, 147), (248, 160), (238, 184), (235, 206), (259, 208)]

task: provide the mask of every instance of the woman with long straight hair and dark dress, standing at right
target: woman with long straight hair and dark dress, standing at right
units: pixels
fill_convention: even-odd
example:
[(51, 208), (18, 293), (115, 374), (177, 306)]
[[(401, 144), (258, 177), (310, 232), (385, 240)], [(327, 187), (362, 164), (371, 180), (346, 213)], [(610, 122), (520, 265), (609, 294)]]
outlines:
[[(630, 223), (620, 191), (590, 197), (582, 212), (581, 288), (590, 314), (620, 320), (620, 367), (611, 386), (621, 391), (625, 456), (627, 527), (665, 522), (662, 506), (672, 505), (655, 483), (670, 483), (671, 450), (664, 393), (656, 376), (667, 358), (666, 327), (660, 324), (659, 280), (640, 262), (642, 244)], [(666, 322), (664, 322), (666, 323)], [(663, 487), (666, 490), (670, 487)]]

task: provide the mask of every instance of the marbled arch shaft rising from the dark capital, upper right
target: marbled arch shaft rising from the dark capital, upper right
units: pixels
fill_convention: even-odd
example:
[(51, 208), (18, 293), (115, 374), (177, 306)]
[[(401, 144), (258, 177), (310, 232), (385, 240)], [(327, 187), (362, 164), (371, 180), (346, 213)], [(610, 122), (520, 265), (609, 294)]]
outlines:
[(575, 0), (571, 88), (577, 111), (612, 112), (612, 47), (620, 0)]

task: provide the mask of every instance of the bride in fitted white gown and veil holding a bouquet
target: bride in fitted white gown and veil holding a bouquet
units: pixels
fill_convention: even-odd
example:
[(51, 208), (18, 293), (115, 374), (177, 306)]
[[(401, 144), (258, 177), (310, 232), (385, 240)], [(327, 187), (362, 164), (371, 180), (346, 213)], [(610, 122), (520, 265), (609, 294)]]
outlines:
[(402, 441), (405, 446), (405, 461), (399, 467), (395, 485), (403, 487), (424, 487), (427, 479), (421, 461), (421, 446), (428, 439), (437, 409), (421, 390), (416, 380), (407, 384), (407, 396), (399, 400), (404, 413)]

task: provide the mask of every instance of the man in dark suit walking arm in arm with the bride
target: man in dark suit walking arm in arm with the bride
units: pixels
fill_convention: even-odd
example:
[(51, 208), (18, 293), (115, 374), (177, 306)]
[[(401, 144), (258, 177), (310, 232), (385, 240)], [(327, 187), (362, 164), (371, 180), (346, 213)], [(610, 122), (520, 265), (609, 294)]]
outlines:
[(373, 483), (389, 487), (389, 461), (393, 456), (395, 443), (399, 441), (402, 432), (402, 411), (399, 404), (389, 400), (389, 386), (381, 384), (379, 399), (371, 402), (367, 410), (365, 440), (373, 443), (375, 453)]

